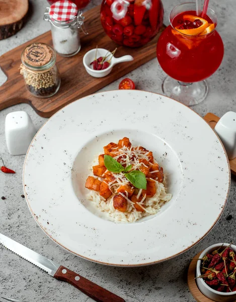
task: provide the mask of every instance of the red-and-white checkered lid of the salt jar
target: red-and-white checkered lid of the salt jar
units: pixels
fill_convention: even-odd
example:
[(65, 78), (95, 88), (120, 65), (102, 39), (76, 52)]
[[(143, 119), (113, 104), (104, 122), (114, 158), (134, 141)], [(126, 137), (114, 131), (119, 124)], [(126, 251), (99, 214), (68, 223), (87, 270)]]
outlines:
[(52, 20), (65, 22), (74, 19), (78, 14), (77, 6), (67, 0), (60, 0), (53, 3), (49, 10)]

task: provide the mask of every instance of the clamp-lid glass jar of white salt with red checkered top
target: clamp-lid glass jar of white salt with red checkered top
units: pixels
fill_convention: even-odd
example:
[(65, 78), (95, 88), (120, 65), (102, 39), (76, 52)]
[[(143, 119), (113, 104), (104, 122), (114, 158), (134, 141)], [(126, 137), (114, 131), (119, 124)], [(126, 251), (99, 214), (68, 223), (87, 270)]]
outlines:
[(80, 32), (83, 29), (84, 19), (82, 12), (76, 5), (67, 0), (60, 0), (47, 8), (44, 20), (51, 23), (53, 47), (56, 52), (65, 57), (75, 55), (81, 49)]

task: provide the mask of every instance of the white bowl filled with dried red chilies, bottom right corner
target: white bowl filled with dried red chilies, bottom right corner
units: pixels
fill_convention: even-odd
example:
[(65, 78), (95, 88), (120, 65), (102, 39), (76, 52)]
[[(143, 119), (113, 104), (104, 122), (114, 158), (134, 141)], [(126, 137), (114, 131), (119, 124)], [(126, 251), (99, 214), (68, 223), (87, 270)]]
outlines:
[(219, 243), (205, 249), (197, 261), (196, 282), (200, 291), (217, 302), (236, 299), (236, 246)]

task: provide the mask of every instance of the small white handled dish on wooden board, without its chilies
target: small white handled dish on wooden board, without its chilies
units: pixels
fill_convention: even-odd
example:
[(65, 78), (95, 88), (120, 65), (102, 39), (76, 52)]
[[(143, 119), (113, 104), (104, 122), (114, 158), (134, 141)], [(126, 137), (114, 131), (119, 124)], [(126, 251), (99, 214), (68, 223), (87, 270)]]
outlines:
[(133, 57), (131, 55), (124, 55), (120, 58), (115, 58), (110, 51), (108, 51), (107, 49), (104, 48), (98, 48), (97, 49), (97, 58), (99, 58), (100, 56), (106, 56), (110, 54), (110, 56), (108, 57), (108, 60), (111, 59), (111, 63), (110, 66), (104, 70), (95, 70), (93, 69), (93, 66), (90, 65), (91, 62), (93, 62), (95, 60), (95, 56), (96, 56), (96, 48), (95, 49), (91, 49), (90, 51), (88, 51), (83, 58), (83, 64), (85, 66), (86, 71), (92, 75), (92, 77), (95, 78), (103, 78), (106, 77), (106, 75), (108, 75), (111, 71), (113, 66), (115, 66), (118, 63), (122, 63), (122, 62), (129, 62), (129, 61), (133, 61)]

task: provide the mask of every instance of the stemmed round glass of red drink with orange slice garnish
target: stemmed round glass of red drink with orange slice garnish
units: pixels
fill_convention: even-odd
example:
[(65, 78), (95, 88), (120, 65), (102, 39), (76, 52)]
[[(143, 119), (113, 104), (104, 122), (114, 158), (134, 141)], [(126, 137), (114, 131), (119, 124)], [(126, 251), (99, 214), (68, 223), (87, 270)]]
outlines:
[(183, 3), (172, 10), (170, 24), (156, 46), (158, 61), (169, 75), (163, 92), (185, 105), (195, 105), (205, 99), (205, 79), (217, 70), (223, 58), (217, 17), (209, 7), (204, 16), (197, 16), (195, 3)]

